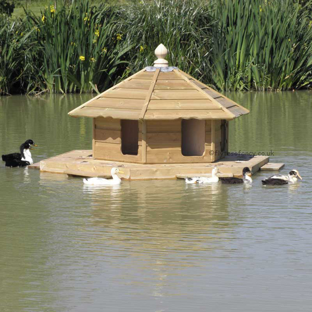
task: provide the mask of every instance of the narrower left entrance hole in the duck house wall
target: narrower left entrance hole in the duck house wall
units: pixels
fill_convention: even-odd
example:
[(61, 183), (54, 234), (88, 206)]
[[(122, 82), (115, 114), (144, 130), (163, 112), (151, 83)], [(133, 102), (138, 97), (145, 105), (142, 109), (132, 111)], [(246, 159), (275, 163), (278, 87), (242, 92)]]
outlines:
[(124, 155), (138, 155), (139, 121), (121, 120), (121, 152)]

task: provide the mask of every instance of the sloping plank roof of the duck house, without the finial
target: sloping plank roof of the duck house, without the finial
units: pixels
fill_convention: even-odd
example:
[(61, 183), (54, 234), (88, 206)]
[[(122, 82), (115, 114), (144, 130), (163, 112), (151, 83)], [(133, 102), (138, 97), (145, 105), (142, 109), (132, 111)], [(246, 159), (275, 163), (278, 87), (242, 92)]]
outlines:
[(171, 70), (147, 67), (68, 114), (137, 120), (230, 120), (249, 113), (246, 108), (178, 68)]

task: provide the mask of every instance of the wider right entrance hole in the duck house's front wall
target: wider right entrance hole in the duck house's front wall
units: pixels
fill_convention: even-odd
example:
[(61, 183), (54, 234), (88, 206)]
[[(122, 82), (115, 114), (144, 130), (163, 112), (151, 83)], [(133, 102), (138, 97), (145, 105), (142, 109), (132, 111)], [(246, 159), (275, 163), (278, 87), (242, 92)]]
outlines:
[(202, 156), (205, 151), (205, 120), (182, 119), (183, 156)]

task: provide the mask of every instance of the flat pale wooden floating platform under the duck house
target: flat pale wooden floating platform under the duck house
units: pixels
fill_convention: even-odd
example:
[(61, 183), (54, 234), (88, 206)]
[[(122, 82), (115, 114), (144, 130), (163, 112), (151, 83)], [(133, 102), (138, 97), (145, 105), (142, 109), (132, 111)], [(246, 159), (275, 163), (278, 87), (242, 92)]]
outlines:
[(226, 176), (241, 176), (242, 169), (249, 167), (252, 173), (257, 172), (269, 162), (267, 156), (226, 156), (214, 163), (178, 163), (178, 164), (139, 164), (107, 160), (97, 160), (92, 157), (92, 150), (73, 150), (57, 155), (29, 168), (38, 168), (45, 172), (66, 173), (82, 177), (108, 177), (113, 167), (122, 168), (119, 174), (123, 179), (170, 179), (192, 175), (211, 173), (218, 167)]

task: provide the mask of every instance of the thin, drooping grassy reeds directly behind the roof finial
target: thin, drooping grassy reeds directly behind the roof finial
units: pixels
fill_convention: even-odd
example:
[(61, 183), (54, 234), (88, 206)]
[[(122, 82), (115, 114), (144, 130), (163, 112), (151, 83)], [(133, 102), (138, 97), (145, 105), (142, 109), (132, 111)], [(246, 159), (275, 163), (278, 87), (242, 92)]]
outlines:
[(169, 66), (178, 66), (198, 79), (206, 76), (213, 20), (202, 1), (141, 1), (124, 7), (121, 17), (126, 41), (134, 44), (129, 55), (132, 73), (153, 66), (154, 50), (163, 43)]

